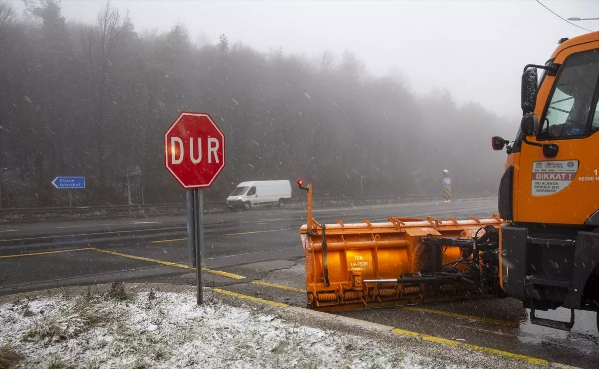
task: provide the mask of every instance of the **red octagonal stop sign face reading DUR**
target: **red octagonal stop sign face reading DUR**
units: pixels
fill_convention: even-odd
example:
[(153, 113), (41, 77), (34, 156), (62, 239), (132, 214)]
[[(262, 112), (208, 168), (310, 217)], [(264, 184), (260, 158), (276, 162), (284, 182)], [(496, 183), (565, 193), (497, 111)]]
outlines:
[(207, 113), (183, 111), (164, 133), (164, 164), (183, 188), (209, 187), (225, 167), (225, 135)]

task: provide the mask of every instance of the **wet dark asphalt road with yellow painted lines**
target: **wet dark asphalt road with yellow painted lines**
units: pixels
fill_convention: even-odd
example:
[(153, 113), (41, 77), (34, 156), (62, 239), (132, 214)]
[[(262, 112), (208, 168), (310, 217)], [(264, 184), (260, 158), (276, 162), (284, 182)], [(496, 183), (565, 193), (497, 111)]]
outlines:
[[(316, 209), (319, 222), (389, 216), (486, 218), (496, 200)], [(205, 217), (206, 286), (305, 306), (303, 209), (213, 212)], [(184, 216), (68, 219), (0, 224), (0, 294), (113, 280), (195, 284), (187, 268)], [(542, 312), (541, 312), (542, 313)], [(541, 314), (540, 313), (540, 314)], [(576, 312), (563, 332), (531, 325), (519, 301), (485, 299), (344, 312), (430, 336), (574, 365), (599, 367), (595, 314)], [(544, 313), (567, 319), (567, 312)]]

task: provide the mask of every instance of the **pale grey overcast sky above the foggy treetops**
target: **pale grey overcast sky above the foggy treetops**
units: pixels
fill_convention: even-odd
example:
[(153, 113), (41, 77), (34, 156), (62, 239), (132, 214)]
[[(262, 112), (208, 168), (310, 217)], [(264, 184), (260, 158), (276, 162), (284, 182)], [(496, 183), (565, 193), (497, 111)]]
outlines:
[[(564, 18), (599, 17), (598, 0), (541, 1)], [(104, 1), (62, 1), (69, 21), (93, 22)], [(23, 9), (23, 4), (13, 1)], [(544, 63), (562, 37), (586, 33), (537, 1), (179, 1), (117, 0), (136, 31), (170, 30), (177, 22), (192, 40), (216, 43), (225, 33), (261, 51), (282, 47), (311, 57), (345, 48), (368, 71), (396, 71), (416, 93), (446, 87), (459, 103), (480, 102), (515, 117), (520, 76), (527, 63)], [(573, 22), (592, 31), (599, 21)]]

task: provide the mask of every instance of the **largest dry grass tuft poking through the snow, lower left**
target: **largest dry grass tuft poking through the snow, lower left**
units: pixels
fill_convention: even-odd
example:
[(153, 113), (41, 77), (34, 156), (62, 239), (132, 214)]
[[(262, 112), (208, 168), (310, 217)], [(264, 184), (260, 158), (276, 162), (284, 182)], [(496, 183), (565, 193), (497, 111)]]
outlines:
[(25, 340), (56, 342), (68, 340), (105, 319), (96, 309), (96, 300), (80, 296), (66, 309), (44, 315), (23, 336)]

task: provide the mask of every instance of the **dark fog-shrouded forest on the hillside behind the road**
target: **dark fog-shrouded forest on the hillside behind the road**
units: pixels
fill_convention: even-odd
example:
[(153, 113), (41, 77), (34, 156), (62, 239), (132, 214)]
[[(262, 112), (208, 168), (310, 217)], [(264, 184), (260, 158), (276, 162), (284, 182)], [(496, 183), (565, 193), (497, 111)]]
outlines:
[(456, 196), (495, 193), (505, 154), (490, 138), (516, 133), (513, 119), (458, 105), (442, 87), (418, 95), (401, 74), (374, 77), (351, 45), (341, 55), (262, 53), (224, 34), (194, 42), (183, 24), (138, 30), (109, 2), (92, 24), (66, 22), (59, 1), (26, 5), (20, 14), (0, 2), (6, 208), (64, 205), (57, 175), (86, 176), (79, 206), (125, 204), (134, 166), (146, 203), (183, 201), (163, 159), (180, 111), (208, 112), (225, 133), (211, 201), (261, 179), (301, 178), (317, 197), (360, 196), (361, 176), (364, 196), (434, 194), (443, 169)]

